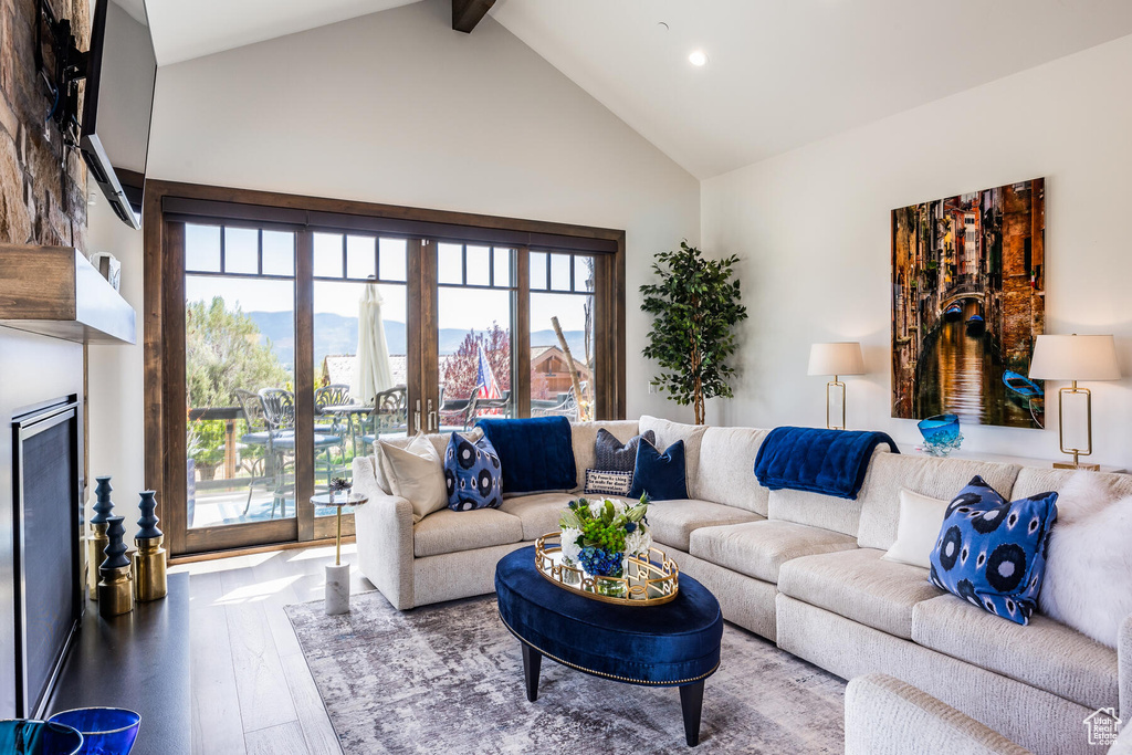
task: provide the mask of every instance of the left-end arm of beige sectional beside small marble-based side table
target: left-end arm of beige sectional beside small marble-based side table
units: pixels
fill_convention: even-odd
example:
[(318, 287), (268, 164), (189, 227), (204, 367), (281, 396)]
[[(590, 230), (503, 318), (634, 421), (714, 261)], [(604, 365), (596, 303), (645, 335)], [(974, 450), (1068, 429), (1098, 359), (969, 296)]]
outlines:
[(354, 508), (358, 568), (397, 609), (413, 607), (413, 507), (377, 484), (374, 460), (353, 460), (354, 491), (369, 503)]

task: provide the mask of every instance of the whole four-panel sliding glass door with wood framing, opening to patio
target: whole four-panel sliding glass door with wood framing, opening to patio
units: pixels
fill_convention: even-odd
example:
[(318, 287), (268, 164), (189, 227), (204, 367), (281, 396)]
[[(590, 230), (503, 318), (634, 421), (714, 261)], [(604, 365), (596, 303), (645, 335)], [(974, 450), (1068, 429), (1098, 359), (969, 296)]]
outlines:
[(147, 477), (160, 470), (174, 557), (333, 537), (334, 511), (311, 498), (381, 440), (623, 411), (618, 255), (506, 229), (173, 205), (156, 234)]

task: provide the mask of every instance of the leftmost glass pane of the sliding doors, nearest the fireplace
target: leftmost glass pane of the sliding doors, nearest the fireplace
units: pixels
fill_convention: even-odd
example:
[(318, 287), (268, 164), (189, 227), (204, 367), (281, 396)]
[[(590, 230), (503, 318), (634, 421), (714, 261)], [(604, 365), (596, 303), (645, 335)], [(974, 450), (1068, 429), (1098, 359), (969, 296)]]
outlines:
[(186, 224), (183, 255), (185, 524), (293, 520), (295, 234)]

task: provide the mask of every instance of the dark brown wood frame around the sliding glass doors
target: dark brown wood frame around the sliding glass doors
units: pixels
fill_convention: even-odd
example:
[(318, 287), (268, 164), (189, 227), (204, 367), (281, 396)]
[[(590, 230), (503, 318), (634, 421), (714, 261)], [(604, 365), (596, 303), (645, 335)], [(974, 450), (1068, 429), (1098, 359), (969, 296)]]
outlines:
[[(402, 237), (408, 240), (409, 334), (411, 366), (420, 369), (423, 395), (435, 395), (437, 241), (511, 247), (515, 256), (513, 291), (516, 343), (526, 343), (530, 331), (529, 250), (590, 254), (599, 274), (594, 292), (595, 400), (598, 419), (625, 417), (625, 232), (448, 211), (400, 207), (365, 201), (327, 199), (300, 195), (209, 187), (169, 181), (146, 183), (144, 207), (144, 344), (145, 344), (145, 479), (158, 491), (158, 515), (166, 522), (172, 556), (224, 551), (268, 543), (315, 541), (329, 530), (312, 517), (267, 523), (234, 524), (194, 531), (188, 538), (185, 516), (185, 223), (212, 223), (299, 231), (295, 235), (295, 384), (314, 384), (314, 364), (298, 358), (312, 350), (312, 233), (333, 230)], [(308, 232), (310, 231), (310, 232)], [(494, 271), (492, 271), (494, 274)], [(431, 285), (429, 285), (431, 282)], [(517, 389), (530, 389), (530, 352), (516, 349), (514, 366)], [(311, 438), (312, 397), (297, 391), (297, 437)], [(529, 396), (528, 396), (529, 398)], [(520, 415), (530, 411), (528, 400), (516, 404)], [(410, 431), (414, 431), (410, 407)], [(309, 426), (309, 427), (305, 427)], [(314, 448), (297, 449), (297, 479), (312, 480)], [(295, 491), (302, 501), (310, 491)], [(302, 504), (298, 506), (301, 508)], [(321, 526), (319, 526), (321, 525)], [(249, 535), (249, 527), (255, 527)], [(191, 540), (191, 542), (190, 542)]]

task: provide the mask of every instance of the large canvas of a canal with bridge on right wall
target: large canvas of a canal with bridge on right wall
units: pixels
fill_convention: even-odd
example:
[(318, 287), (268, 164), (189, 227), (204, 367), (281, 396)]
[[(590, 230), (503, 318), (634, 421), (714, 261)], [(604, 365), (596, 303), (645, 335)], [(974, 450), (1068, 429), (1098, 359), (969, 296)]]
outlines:
[(892, 211), (892, 415), (1040, 428), (1045, 180)]

